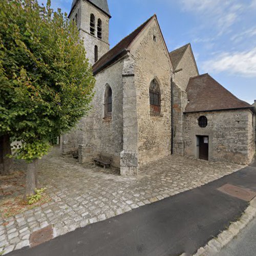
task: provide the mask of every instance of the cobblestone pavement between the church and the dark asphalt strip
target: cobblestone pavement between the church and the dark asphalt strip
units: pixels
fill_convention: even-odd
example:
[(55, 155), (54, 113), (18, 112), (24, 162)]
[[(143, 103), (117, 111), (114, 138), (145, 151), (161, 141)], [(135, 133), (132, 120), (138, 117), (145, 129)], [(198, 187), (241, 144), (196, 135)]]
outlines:
[(39, 163), (39, 181), (52, 201), (0, 219), (0, 254), (30, 245), (33, 231), (53, 225), (53, 236), (204, 185), (243, 166), (168, 156), (140, 168), (137, 177), (118, 170), (79, 165), (58, 149)]

